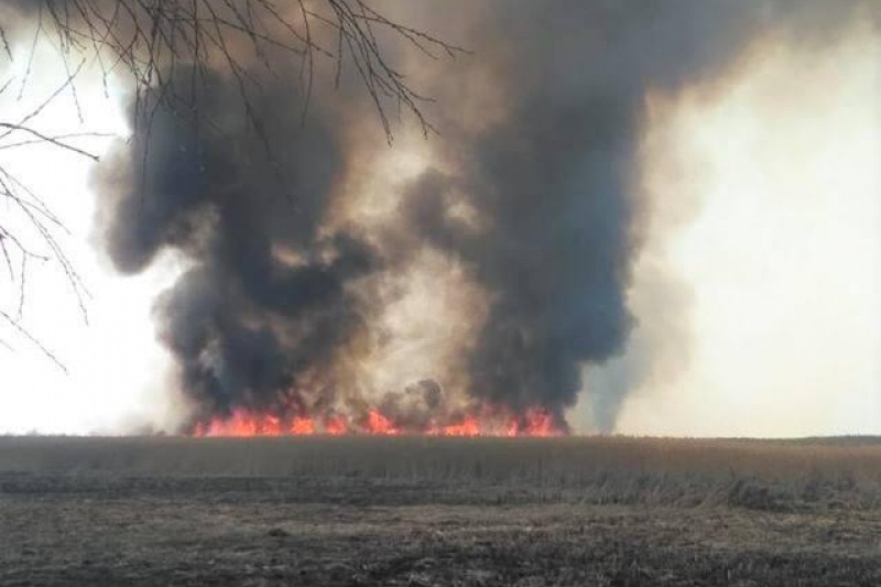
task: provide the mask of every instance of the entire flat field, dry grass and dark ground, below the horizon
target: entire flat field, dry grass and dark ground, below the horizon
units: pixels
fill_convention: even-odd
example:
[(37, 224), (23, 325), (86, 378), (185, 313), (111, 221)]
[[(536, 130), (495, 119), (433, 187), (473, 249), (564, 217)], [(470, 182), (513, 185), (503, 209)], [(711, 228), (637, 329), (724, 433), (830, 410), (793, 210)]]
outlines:
[(0, 438), (0, 585), (881, 585), (874, 438)]

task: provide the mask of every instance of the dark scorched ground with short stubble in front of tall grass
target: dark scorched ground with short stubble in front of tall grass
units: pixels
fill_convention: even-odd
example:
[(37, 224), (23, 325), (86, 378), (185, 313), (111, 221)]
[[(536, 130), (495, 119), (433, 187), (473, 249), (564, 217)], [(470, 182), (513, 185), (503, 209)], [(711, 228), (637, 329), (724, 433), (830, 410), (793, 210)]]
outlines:
[[(12, 471), (0, 585), (881, 585), (881, 512), (579, 503), (493, 482)], [(95, 469), (100, 467), (93, 467)]]

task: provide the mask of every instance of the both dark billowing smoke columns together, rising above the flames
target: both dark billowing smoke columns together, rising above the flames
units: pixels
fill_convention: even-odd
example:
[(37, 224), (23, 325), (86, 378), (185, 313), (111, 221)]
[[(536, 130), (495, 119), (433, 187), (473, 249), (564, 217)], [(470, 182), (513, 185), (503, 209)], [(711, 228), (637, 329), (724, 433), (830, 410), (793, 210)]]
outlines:
[[(352, 162), (387, 149), (379, 129), (351, 132), (374, 116), (369, 100), (318, 86), (304, 123), (303, 79), (264, 67), (293, 70), (290, 54), (263, 55), (248, 72), (260, 124), (240, 72), (176, 70), (178, 100), (142, 97), (155, 106), (152, 123), (101, 165), (97, 230), (115, 265), (139, 272), (172, 251), (189, 267), (155, 316), (199, 418), (241, 406), (365, 414), (370, 402), (422, 428), (426, 413), (448, 416), (448, 366), (406, 390), (380, 390), (380, 401), (347, 367), (395, 303), (377, 283), (418, 271), (417, 251), (428, 249), (464, 268), (486, 302), (485, 315), (470, 316), (475, 339), (461, 341), (465, 394), (518, 414), (540, 409), (565, 428), (584, 369), (619, 356), (639, 319), (629, 289), (653, 217), (638, 186), (646, 94), (706, 84), (768, 31), (823, 41), (871, 6), (387, 4), (392, 20), (472, 54), (414, 78), (438, 100), (429, 113), (440, 135), (429, 139), (427, 169), (388, 183), (396, 205), (382, 221), (335, 218), (358, 209)], [(391, 57), (406, 65), (405, 51)], [(599, 427), (613, 427), (626, 392), (591, 390)]]

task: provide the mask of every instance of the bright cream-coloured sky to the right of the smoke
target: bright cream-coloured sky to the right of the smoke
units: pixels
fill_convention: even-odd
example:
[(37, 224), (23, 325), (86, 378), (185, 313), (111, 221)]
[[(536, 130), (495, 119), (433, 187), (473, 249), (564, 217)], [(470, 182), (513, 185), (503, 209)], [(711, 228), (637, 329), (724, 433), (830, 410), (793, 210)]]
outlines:
[(696, 205), (638, 271), (690, 290), (694, 344), (620, 432), (881, 431), (880, 48), (860, 26), (822, 52), (768, 40), (719, 95), (650, 97), (646, 189)]

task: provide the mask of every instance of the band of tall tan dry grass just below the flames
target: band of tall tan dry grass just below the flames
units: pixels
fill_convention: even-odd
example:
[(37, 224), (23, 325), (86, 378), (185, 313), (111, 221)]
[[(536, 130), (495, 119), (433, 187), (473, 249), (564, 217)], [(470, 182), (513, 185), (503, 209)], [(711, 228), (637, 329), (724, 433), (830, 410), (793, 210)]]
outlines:
[(301, 479), (344, 492), (358, 481), (412, 487), (444, 502), (881, 507), (881, 443), (871, 438), (9, 437), (0, 438), (0, 471), (77, 474), (83, 483), (95, 478), (89, 474), (110, 474), (116, 483), (131, 477)]

